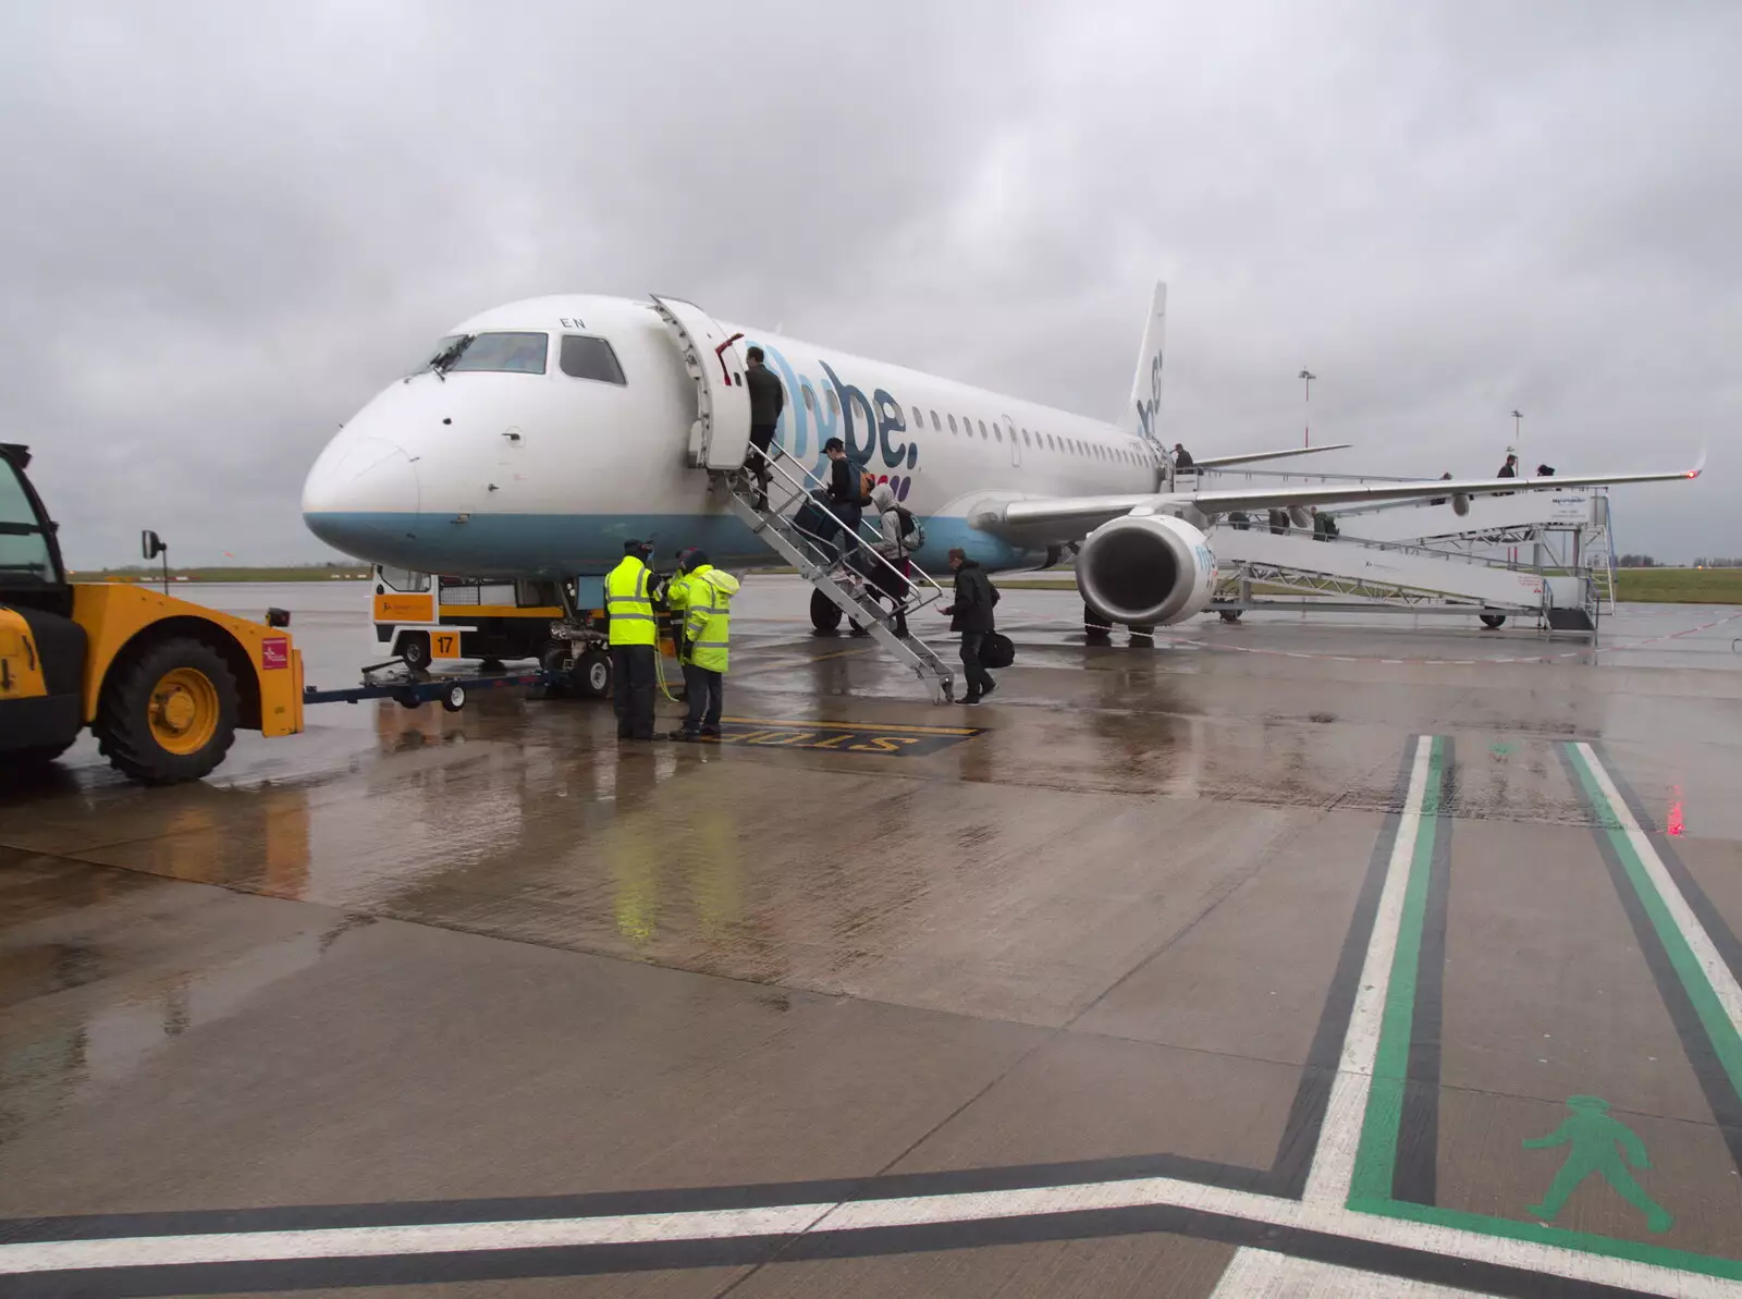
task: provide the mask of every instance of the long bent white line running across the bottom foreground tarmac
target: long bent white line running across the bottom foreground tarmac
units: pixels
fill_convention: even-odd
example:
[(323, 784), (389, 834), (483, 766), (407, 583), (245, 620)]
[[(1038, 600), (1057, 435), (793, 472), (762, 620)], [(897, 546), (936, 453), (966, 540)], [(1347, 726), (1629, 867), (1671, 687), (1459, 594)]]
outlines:
[[(530, 1222), (451, 1222), (416, 1228), (322, 1228), (314, 1231), (242, 1231), (202, 1236), (127, 1236), (0, 1245), (0, 1275), (52, 1273), (71, 1268), (138, 1268), (190, 1262), (286, 1259), (357, 1259), (458, 1250), (512, 1250), (550, 1245), (615, 1245), (735, 1236), (800, 1235), (866, 1228), (909, 1228), (939, 1222), (1071, 1214), (1106, 1208), (1172, 1205), (1223, 1214), (1247, 1222), (1301, 1228), (1343, 1240), (1439, 1254), (1446, 1259), (1495, 1262), (1575, 1282), (1620, 1285), (1674, 1299), (1742, 1299), (1742, 1282), (1664, 1268), (1632, 1259), (1507, 1240), (1486, 1231), (1408, 1222), (1359, 1214), (1341, 1205), (1303, 1203), (1279, 1196), (1200, 1186), (1167, 1177), (1077, 1186), (1035, 1186), (1014, 1191), (970, 1191), (857, 1200), (840, 1205), (777, 1205), (622, 1217), (540, 1219)], [(1383, 1290), (1395, 1294), (1394, 1289)]]

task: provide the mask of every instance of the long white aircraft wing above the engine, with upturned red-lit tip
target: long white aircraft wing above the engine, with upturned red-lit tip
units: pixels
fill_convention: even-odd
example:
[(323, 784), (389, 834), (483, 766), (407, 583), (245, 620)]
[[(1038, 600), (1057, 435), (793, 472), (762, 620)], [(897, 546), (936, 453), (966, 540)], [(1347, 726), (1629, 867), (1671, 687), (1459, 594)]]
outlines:
[(1077, 542), (1110, 519), (1136, 508), (1167, 512), (1181, 505), (1209, 514), (1272, 510), (1294, 505), (1347, 505), (1361, 501), (1427, 500), (1430, 496), (1491, 496), (1502, 491), (1604, 488), (1617, 482), (1674, 482), (1697, 479), (1693, 468), (1657, 474), (1587, 474), (1552, 479), (1432, 479), (1423, 482), (1326, 482), (1313, 488), (1240, 488), (1232, 491), (1131, 493), (1124, 496), (1054, 496), (1000, 501), (974, 522), (991, 531), (1021, 533), (1024, 540)]

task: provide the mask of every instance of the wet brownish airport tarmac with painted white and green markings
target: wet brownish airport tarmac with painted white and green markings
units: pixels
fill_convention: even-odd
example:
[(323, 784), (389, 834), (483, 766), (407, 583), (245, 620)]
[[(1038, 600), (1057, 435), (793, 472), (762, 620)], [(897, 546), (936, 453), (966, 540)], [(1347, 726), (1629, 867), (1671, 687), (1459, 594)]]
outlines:
[(969, 709), (805, 608), (725, 745), (503, 693), (0, 794), (0, 1297), (1742, 1294), (1737, 611), (1009, 590)]

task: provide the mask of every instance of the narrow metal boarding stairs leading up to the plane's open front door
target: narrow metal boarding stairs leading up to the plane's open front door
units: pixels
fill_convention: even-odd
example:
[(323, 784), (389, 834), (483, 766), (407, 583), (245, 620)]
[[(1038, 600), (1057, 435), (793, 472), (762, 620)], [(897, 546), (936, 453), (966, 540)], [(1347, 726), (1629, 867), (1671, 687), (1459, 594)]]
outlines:
[[(801, 528), (798, 514), (805, 501), (827, 500), (822, 481), (779, 451), (761, 456), (751, 448), (749, 454), (766, 463), (766, 496), (758, 491), (749, 470), (714, 470), (714, 491), (723, 493), (732, 512), (793, 564), (812, 589), (827, 597), (848, 620), (864, 627), (895, 662), (906, 663), (925, 683), (934, 703), (949, 703), (955, 698), (955, 672), (916, 636), (906, 639), (895, 636), (897, 606), (890, 604), (878, 580), (883, 578), (885, 585), (895, 590), (906, 587), (899, 611), (908, 618), (942, 599), (942, 589), (920, 573), (918, 566), (909, 566), (913, 571), (901, 575), (871, 547), (869, 538), (874, 533), (866, 521), (861, 521), (855, 533), (848, 535), (843, 529), (827, 538)], [(904, 576), (904, 582), (894, 582), (895, 576)]]

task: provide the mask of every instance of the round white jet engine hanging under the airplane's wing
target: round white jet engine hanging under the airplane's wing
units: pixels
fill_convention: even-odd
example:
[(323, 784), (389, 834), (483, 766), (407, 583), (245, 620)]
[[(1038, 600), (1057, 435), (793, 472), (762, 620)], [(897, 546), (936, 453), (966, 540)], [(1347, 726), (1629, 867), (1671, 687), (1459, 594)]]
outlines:
[(1077, 552), (1084, 602), (1108, 622), (1185, 622), (1209, 608), (1216, 555), (1192, 524), (1167, 514), (1127, 514), (1096, 528)]

